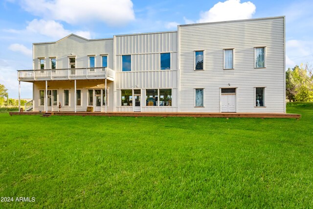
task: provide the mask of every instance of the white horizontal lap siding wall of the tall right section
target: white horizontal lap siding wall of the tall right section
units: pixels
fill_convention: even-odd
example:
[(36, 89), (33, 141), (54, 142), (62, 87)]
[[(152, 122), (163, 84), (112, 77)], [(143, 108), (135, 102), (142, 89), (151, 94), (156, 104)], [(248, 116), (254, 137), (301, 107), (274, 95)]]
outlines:
[[(229, 87), (239, 113), (284, 112), (284, 17), (181, 25), (179, 40), (181, 112), (220, 112), (220, 88)], [(254, 68), (254, 47), (266, 47), (266, 68)], [(234, 69), (224, 70), (229, 48)], [(204, 50), (204, 70), (194, 70), (195, 50)], [(254, 107), (255, 87), (266, 88), (266, 108)], [(195, 88), (204, 89), (204, 108), (194, 107)]]

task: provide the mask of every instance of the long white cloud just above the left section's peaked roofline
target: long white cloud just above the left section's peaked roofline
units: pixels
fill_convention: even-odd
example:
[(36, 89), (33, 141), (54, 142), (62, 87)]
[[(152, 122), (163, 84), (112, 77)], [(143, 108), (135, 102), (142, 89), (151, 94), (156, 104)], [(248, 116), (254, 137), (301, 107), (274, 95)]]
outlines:
[(89, 31), (69, 31), (67, 29), (64, 29), (63, 24), (55, 22), (53, 20), (45, 21), (34, 19), (33, 21), (28, 23), (26, 31), (39, 33), (48, 37), (52, 37), (54, 39), (63, 38), (70, 33), (74, 33), (76, 35), (90, 39)]

